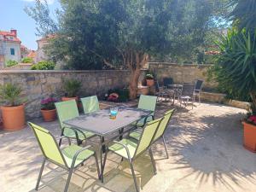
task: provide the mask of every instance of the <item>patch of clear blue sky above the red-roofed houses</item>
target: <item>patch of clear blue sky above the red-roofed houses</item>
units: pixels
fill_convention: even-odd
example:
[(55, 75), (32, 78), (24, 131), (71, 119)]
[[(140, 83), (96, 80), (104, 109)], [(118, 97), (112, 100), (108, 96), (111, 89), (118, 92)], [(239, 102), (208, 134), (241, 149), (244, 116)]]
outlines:
[[(47, 1), (51, 12), (60, 6), (58, 0)], [(24, 44), (28, 49), (37, 49), (36, 40), (40, 37), (35, 35), (35, 21), (24, 11), (26, 6), (34, 4), (34, 0), (0, 0), (0, 2), (0, 31), (9, 31), (14, 28), (18, 31), (21, 44)]]

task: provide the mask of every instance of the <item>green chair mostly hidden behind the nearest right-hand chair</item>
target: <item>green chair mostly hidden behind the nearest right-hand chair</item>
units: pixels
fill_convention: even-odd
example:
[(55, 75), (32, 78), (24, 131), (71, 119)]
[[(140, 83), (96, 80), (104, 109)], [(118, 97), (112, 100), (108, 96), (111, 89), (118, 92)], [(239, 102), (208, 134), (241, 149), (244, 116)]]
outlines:
[[(166, 150), (167, 159), (169, 159), (169, 155), (168, 155), (167, 148), (166, 148), (166, 139), (164, 137), (164, 134), (165, 134), (166, 128), (168, 127), (170, 120), (172, 119), (172, 114), (174, 113), (174, 111), (175, 111), (175, 109), (172, 109), (172, 110), (167, 111), (164, 114), (164, 119), (161, 121), (159, 128), (155, 133), (154, 140), (153, 140), (153, 143), (155, 143), (160, 138), (162, 138), (164, 146), (165, 146), (165, 150)], [(129, 137), (139, 140), (141, 135), (142, 135), (142, 131), (135, 130), (135, 131), (131, 131), (131, 133), (129, 134)]]

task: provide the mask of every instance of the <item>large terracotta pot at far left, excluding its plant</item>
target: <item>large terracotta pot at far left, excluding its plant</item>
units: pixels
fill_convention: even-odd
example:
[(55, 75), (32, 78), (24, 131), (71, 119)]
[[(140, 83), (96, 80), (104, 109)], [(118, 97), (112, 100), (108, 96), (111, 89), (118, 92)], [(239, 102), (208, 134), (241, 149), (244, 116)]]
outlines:
[(25, 105), (1, 107), (3, 116), (3, 130), (18, 131), (25, 127)]

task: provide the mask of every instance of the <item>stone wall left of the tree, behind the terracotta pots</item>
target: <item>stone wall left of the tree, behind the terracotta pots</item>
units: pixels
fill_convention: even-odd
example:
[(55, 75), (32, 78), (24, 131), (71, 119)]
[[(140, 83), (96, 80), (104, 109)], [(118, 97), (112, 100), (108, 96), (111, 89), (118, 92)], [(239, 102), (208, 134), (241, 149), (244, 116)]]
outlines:
[(40, 117), (42, 98), (54, 94), (64, 95), (62, 79), (78, 79), (82, 82), (79, 96), (102, 95), (109, 89), (128, 85), (129, 71), (0, 71), (0, 84), (20, 84), (26, 97), (27, 119)]

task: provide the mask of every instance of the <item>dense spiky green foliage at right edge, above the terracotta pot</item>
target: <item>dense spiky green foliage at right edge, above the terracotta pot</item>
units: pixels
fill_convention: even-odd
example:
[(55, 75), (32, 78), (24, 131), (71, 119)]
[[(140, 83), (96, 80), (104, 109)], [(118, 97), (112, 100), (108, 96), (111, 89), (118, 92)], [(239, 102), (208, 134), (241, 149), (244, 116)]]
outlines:
[(220, 89), (228, 91), (230, 96), (244, 99), (251, 96), (256, 107), (256, 33), (232, 30), (218, 46), (222, 54), (210, 74), (217, 79)]

